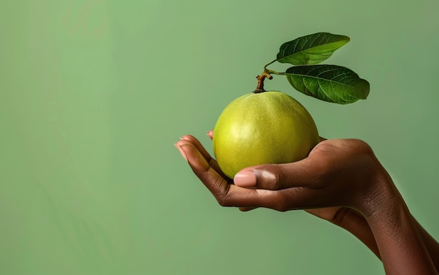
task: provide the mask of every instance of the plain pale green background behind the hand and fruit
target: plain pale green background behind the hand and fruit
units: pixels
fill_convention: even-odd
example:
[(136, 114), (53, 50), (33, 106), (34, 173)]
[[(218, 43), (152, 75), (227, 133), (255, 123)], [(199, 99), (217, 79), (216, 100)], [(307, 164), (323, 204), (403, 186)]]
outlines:
[[(303, 211), (222, 208), (173, 143), (205, 131), (285, 41), (351, 42), (325, 63), (370, 81), (306, 97), (321, 136), (370, 143), (439, 238), (439, 2), (0, 1), (0, 274), (384, 274)], [(281, 64), (272, 69), (286, 69)]]

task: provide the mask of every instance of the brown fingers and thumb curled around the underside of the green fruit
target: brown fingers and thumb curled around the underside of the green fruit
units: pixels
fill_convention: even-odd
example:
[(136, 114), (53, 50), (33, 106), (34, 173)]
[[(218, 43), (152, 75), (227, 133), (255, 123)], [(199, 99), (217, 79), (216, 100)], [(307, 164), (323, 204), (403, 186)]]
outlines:
[[(208, 132), (208, 136), (212, 134)], [(259, 207), (288, 211), (324, 207), (330, 203), (318, 191), (320, 173), (312, 157), (289, 164), (248, 167), (236, 175), (232, 185), (194, 136), (182, 136), (175, 145), (222, 206), (236, 206), (241, 211)]]

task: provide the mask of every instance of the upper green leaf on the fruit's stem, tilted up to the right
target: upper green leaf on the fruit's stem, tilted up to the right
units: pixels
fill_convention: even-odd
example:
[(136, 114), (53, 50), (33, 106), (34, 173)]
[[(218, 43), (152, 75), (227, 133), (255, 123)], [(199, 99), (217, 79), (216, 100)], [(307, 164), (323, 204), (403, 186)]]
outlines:
[(293, 65), (318, 64), (331, 57), (335, 50), (348, 43), (349, 40), (348, 36), (327, 32), (309, 34), (283, 43), (276, 60)]

